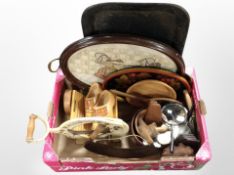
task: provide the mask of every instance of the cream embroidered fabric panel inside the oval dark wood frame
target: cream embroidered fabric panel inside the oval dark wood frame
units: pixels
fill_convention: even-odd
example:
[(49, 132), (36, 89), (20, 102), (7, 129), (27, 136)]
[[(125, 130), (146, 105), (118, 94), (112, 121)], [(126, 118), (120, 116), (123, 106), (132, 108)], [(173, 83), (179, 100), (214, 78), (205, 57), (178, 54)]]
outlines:
[(156, 67), (177, 71), (167, 55), (131, 44), (98, 44), (78, 50), (68, 60), (68, 69), (86, 84), (102, 82), (110, 73), (129, 67)]

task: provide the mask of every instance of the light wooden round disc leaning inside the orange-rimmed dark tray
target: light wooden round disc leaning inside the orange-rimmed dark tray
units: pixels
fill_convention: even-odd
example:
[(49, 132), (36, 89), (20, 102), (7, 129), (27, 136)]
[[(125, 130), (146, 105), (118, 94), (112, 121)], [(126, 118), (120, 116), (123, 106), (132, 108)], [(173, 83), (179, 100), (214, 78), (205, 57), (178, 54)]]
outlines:
[[(130, 86), (127, 93), (149, 98), (166, 97), (176, 99), (175, 90), (168, 84), (158, 80), (139, 81)], [(134, 104), (135, 102), (132, 98), (126, 98), (126, 100), (130, 104)]]

